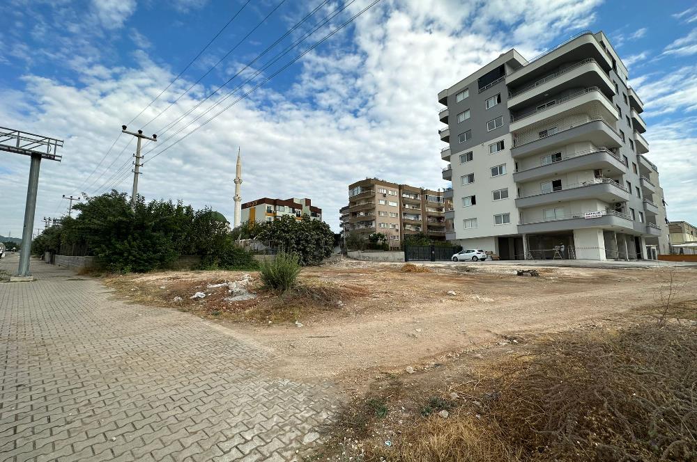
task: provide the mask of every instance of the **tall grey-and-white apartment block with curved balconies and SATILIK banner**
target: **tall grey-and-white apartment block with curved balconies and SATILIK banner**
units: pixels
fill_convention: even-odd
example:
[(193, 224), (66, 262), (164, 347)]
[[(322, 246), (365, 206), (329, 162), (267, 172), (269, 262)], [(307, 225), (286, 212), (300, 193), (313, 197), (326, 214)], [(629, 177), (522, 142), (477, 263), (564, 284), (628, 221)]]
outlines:
[(530, 61), (507, 51), (438, 102), (448, 240), (504, 259), (647, 258), (667, 244), (643, 102), (604, 33)]

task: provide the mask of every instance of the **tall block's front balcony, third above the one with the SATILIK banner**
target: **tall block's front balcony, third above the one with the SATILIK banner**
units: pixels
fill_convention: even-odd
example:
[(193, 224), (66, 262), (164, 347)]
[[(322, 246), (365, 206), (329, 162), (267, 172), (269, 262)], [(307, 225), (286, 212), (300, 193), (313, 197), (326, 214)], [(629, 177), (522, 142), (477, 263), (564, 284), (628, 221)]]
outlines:
[(557, 125), (556, 132), (553, 133), (550, 133), (549, 129), (526, 129), (513, 136), (514, 147), (511, 149), (511, 155), (514, 159), (553, 152), (554, 148), (579, 141), (590, 141), (596, 146), (608, 148), (622, 146), (620, 134), (603, 118), (570, 125)]

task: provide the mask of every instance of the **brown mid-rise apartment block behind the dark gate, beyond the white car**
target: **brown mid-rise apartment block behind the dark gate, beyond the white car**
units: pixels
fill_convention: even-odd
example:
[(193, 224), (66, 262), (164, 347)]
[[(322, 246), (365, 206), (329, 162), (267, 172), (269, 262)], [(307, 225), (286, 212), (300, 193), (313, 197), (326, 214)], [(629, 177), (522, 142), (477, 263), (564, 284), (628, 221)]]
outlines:
[(422, 189), (367, 178), (348, 186), (348, 206), (342, 207), (344, 232), (358, 232), (367, 239), (381, 232), (390, 247), (399, 247), (408, 234), (424, 232), (431, 239), (445, 239), (445, 202), (442, 191)]

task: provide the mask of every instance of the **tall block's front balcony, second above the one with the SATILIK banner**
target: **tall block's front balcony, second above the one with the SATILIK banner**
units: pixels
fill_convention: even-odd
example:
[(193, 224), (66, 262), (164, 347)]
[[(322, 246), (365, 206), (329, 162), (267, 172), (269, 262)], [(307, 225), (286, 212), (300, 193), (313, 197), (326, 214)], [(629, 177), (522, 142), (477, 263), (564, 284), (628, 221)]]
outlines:
[(620, 156), (607, 148), (597, 148), (588, 151), (574, 152), (562, 157), (560, 161), (544, 166), (517, 170), (513, 173), (513, 181), (516, 183), (537, 180), (560, 173), (574, 170), (603, 170), (606, 177), (613, 177), (627, 173), (627, 166), (620, 160)]

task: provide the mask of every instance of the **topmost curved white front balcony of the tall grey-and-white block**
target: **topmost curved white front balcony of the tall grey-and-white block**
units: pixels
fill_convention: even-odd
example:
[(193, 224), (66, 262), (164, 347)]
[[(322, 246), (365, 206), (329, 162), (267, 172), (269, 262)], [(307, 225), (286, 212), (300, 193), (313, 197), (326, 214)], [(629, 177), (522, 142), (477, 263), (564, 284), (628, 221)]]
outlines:
[(610, 72), (612, 69), (612, 61), (596, 40), (595, 35), (590, 31), (583, 31), (543, 54), (535, 56), (526, 65), (508, 74), (506, 84), (520, 88), (526, 86), (528, 82), (537, 81), (546, 74), (554, 72), (564, 63), (587, 58), (595, 60), (605, 72)]

